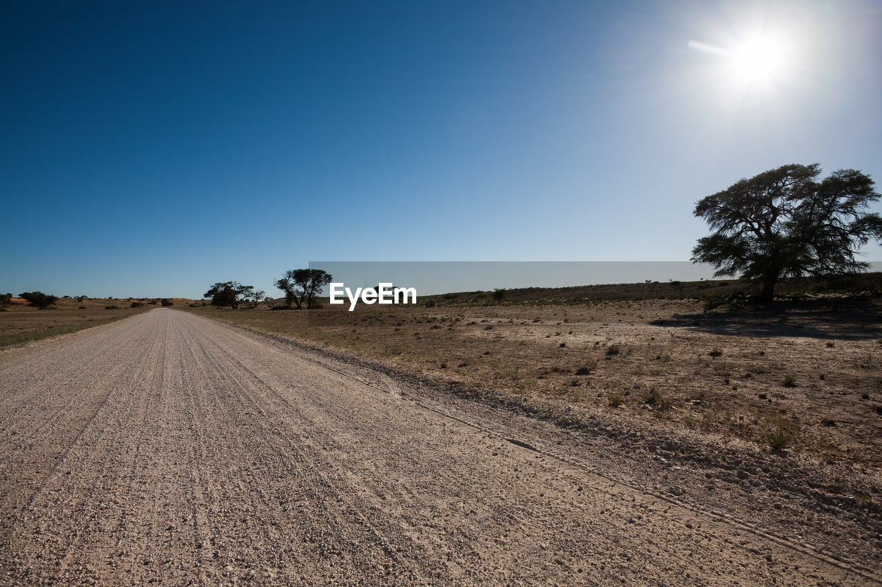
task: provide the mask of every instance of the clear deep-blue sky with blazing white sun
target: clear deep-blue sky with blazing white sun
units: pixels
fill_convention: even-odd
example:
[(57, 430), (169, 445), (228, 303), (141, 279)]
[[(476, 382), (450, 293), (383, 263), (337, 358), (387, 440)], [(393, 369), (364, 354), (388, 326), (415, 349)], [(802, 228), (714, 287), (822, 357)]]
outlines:
[(878, 0), (6, 2), (0, 49), (14, 294), (686, 260), (742, 177), (882, 182)]

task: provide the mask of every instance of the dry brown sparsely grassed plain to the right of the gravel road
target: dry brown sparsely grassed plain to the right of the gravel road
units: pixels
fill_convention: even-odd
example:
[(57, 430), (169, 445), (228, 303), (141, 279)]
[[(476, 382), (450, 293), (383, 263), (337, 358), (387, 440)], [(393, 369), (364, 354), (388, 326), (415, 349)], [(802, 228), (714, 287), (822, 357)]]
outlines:
[[(873, 279), (882, 286), (882, 274), (863, 276), (859, 283), (867, 287), (877, 283)], [(782, 282), (781, 288), (786, 290), (788, 283)], [(665, 284), (657, 287), (672, 289)], [(683, 287), (690, 291), (691, 284), (684, 283)], [(582, 294), (586, 290), (573, 291)], [(193, 310), (261, 330), (310, 338), (322, 345), (352, 349), (369, 359), (391, 360), (397, 368), (415, 373), (424, 373), (427, 363), (434, 364), (436, 367), (430, 368), (433, 377), (503, 396), (527, 395), (541, 400), (540, 405), (554, 405), (552, 410), (557, 415), (567, 413), (567, 407), (605, 408), (610, 406), (610, 396), (618, 396), (620, 408), (633, 409), (610, 409), (609, 418), (624, 417), (626, 413), (629, 420), (639, 421), (654, 415), (657, 426), (683, 425), (701, 432), (736, 435), (745, 442), (766, 446), (761, 422), (772, 422), (778, 412), (786, 411), (786, 421), (815, 424), (806, 427), (798, 442), (791, 443), (797, 443), (799, 450), (833, 460), (871, 462), (882, 454), (882, 439), (861, 437), (860, 442), (856, 441), (855, 422), (861, 416), (843, 414), (845, 406), (829, 402), (831, 394), (854, 393), (856, 387), (869, 389), (877, 384), (873, 370), (860, 367), (871, 364), (870, 358), (853, 354), (858, 349), (865, 353), (867, 338), (837, 338), (836, 353), (820, 353), (818, 346), (823, 348), (829, 340), (820, 338), (817, 344), (795, 346), (775, 331), (802, 323), (806, 331), (820, 331), (822, 336), (825, 329), (834, 327), (837, 336), (843, 329), (850, 329), (865, 337), (867, 312), (878, 312), (876, 301), (849, 302), (854, 310), (837, 302), (838, 308), (846, 311), (836, 311), (835, 323), (830, 320), (826, 304), (786, 307), (788, 323), (779, 326), (782, 313), (777, 308), (724, 310), (718, 319), (702, 312), (700, 300), (623, 299), (570, 304), (549, 303), (548, 294), (544, 294), (545, 301), (533, 304), (525, 303), (519, 291), (509, 290), (505, 304), (487, 305), (475, 303), (474, 294), (460, 293), (453, 299), (433, 296), (440, 301), (435, 308), (429, 308), (423, 299), (418, 306), (360, 306), (352, 313), (346, 308), (329, 307), (309, 317), (298, 312), (271, 312), (264, 305), (247, 313), (229, 308)], [(699, 316), (701, 321), (696, 325)], [(766, 329), (769, 334), (758, 339), (748, 334), (716, 333), (719, 324), (732, 328), (740, 323), (746, 324), (745, 332)], [(670, 325), (690, 328), (669, 329)], [(484, 332), (487, 327), (490, 330)], [(878, 335), (869, 338), (873, 347), (876, 338)], [(556, 342), (536, 344), (540, 340)], [(560, 347), (562, 341), (565, 347)], [(612, 354), (606, 354), (610, 351)], [(714, 351), (721, 355), (709, 356)], [(850, 361), (842, 360), (849, 355), (859, 360), (855, 368)], [(438, 368), (442, 362), (456, 368)], [(778, 375), (781, 367), (790, 372)], [(598, 373), (603, 376), (588, 377)], [(821, 373), (825, 375), (823, 380), (819, 378)], [(781, 383), (789, 374), (795, 383), (803, 378), (811, 378), (814, 383), (796, 383), (800, 393), (787, 393)], [(647, 382), (646, 387), (635, 386), (642, 381)], [(857, 392), (855, 403), (859, 397)], [(878, 400), (868, 404), (860, 413), (874, 426)], [(835, 421), (837, 426), (823, 425), (824, 419)], [(823, 435), (818, 436), (818, 430), (823, 430)], [(842, 447), (850, 451), (846, 453)]]

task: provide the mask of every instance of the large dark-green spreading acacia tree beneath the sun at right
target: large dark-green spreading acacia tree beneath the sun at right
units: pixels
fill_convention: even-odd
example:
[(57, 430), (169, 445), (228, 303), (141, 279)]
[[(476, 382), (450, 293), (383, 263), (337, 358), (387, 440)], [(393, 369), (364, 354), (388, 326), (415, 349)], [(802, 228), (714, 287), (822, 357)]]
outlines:
[(866, 270), (857, 249), (882, 241), (882, 218), (866, 212), (879, 199), (874, 183), (854, 169), (818, 181), (820, 172), (817, 163), (785, 165), (699, 200), (695, 215), (714, 234), (699, 239), (692, 261), (759, 283), (764, 301), (783, 277)]

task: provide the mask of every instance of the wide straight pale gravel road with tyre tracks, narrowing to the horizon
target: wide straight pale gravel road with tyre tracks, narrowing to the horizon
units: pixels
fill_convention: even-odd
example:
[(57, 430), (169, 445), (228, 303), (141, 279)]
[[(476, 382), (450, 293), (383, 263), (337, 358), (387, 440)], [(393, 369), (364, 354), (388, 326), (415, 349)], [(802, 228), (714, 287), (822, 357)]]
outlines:
[(0, 583), (878, 580), (402, 386), (170, 309), (4, 353)]

